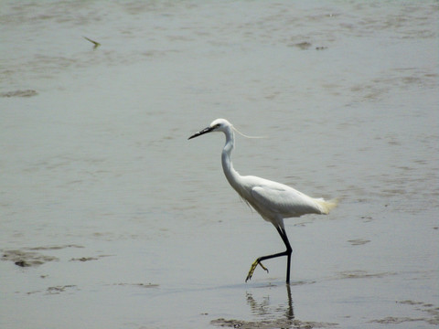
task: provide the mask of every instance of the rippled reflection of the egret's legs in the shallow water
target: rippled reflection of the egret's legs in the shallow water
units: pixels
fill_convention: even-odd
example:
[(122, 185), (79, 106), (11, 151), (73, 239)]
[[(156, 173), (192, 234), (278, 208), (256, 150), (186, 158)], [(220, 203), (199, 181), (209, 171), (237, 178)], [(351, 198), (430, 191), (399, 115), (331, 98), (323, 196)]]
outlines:
[[(286, 288), (286, 300), (285, 302), (275, 306), (270, 302), (270, 296), (262, 297), (261, 301), (257, 301), (253, 298), (252, 292), (246, 292), (247, 303), (252, 310), (252, 313), (262, 318), (271, 318), (273, 315), (278, 321), (284, 321), (285, 323), (294, 320), (293, 300), (291, 298), (291, 287), (289, 284), (285, 284)], [(273, 309), (274, 307), (274, 309)], [(279, 316), (277, 316), (279, 315)]]

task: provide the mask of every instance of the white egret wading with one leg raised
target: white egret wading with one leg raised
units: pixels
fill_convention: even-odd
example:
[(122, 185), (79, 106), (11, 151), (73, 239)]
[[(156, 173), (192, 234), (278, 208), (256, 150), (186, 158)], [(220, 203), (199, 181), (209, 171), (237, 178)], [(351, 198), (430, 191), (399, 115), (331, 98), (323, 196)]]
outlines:
[(290, 281), (291, 254), (293, 249), (286, 236), (284, 218), (296, 218), (305, 214), (328, 214), (337, 206), (336, 201), (325, 201), (323, 198), (314, 198), (295, 190), (290, 186), (276, 183), (268, 179), (246, 175), (241, 176), (231, 164), (230, 154), (233, 151), (235, 138), (233, 125), (225, 119), (217, 119), (210, 123), (209, 127), (193, 134), (188, 139), (198, 137), (204, 133), (221, 132), (226, 135), (226, 143), (222, 150), (221, 162), (224, 175), (241, 198), (250, 204), (266, 221), (273, 224), (281, 239), (284, 241), (286, 250), (273, 255), (262, 256), (256, 259), (250, 268), (245, 281), (252, 279), (254, 270), (258, 265), (263, 270), (262, 260), (270, 260), (276, 257), (287, 257), (286, 282)]

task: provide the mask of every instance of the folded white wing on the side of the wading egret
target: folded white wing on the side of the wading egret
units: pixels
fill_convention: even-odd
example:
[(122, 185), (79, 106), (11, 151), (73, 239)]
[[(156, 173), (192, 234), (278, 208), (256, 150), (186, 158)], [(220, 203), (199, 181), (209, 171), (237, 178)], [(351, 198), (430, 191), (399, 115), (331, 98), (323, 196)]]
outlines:
[(262, 210), (269, 210), (284, 218), (321, 213), (316, 199), (290, 186), (255, 186), (252, 188), (252, 196)]

